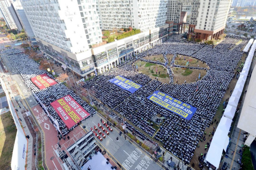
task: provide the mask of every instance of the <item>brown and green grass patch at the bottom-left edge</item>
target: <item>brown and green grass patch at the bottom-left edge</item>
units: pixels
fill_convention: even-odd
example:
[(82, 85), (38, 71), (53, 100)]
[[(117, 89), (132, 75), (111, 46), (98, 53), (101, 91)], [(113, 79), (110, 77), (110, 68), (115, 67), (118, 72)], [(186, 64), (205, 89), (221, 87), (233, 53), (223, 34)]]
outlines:
[(11, 168), (12, 151), (16, 137), (16, 126), (11, 112), (0, 116), (0, 169)]

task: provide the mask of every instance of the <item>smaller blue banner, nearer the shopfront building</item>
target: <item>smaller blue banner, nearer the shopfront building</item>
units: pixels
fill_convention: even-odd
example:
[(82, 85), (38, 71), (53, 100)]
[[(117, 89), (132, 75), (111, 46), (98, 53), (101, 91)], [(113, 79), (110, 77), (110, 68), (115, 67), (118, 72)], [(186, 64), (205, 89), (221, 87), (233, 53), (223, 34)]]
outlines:
[(131, 92), (132, 94), (142, 87), (142, 85), (139, 85), (139, 84), (137, 84), (129, 79), (126, 79), (125, 77), (122, 77), (122, 76), (116, 76), (115, 78), (110, 79), (108, 81), (112, 82), (113, 84), (119, 86), (120, 88), (122, 88), (124, 90)]

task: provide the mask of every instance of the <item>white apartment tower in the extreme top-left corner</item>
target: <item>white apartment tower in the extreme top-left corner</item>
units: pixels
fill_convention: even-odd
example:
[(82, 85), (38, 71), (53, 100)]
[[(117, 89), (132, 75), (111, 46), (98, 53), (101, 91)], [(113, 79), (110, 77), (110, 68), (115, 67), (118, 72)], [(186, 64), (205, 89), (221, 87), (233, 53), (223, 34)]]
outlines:
[(0, 0), (0, 12), (3, 16), (3, 19), (6, 22), (6, 25), (9, 29), (17, 29), (17, 26), (12, 18), (12, 15), (9, 11), (11, 3), (9, 0)]

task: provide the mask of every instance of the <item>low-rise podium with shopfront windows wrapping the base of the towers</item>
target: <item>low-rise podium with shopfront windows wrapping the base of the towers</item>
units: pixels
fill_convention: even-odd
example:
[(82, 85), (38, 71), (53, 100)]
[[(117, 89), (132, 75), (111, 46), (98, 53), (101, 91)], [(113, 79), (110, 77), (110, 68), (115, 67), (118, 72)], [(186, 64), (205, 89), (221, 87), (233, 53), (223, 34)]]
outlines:
[(88, 74), (95, 71), (102, 74), (128, 59), (136, 57), (140, 52), (164, 42), (168, 37), (168, 31), (169, 25), (166, 24), (131, 37), (91, 48), (79, 54), (72, 54), (46, 41), (37, 40), (41, 49), (56, 62), (61, 63), (63, 68), (69, 68), (79, 76), (87, 78)]

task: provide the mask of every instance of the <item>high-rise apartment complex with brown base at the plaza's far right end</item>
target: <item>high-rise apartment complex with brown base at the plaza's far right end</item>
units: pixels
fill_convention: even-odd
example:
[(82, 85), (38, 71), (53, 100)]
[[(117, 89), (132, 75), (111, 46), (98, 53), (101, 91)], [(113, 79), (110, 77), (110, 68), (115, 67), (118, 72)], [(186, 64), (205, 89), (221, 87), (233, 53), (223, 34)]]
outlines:
[[(174, 31), (185, 31), (202, 40), (217, 39), (224, 31), (232, 0), (169, 0), (167, 20), (174, 21)], [(187, 13), (190, 19), (186, 20)]]

